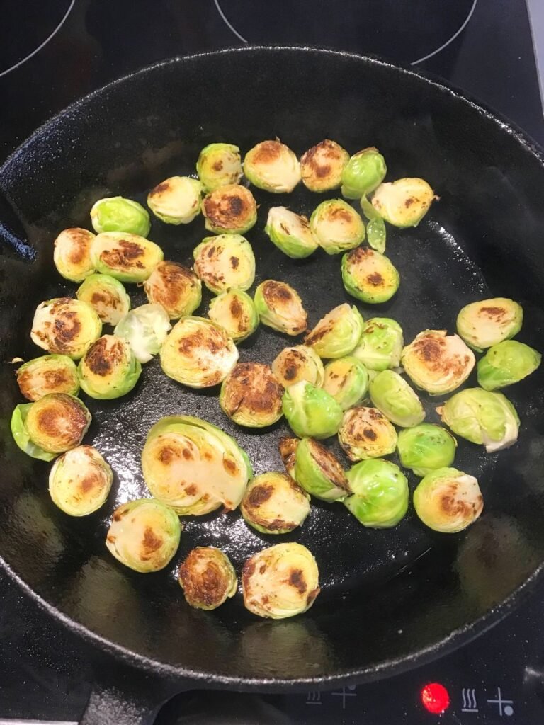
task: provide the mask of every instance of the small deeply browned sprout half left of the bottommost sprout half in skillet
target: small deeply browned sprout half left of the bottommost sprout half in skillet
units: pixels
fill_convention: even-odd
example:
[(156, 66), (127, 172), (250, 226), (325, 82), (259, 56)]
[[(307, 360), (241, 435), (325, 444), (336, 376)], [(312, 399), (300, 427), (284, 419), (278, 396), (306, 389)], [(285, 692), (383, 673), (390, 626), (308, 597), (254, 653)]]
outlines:
[(192, 549), (181, 563), (178, 581), (187, 604), (196, 609), (217, 609), (238, 588), (234, 566), (213, 546)]

